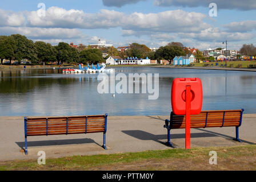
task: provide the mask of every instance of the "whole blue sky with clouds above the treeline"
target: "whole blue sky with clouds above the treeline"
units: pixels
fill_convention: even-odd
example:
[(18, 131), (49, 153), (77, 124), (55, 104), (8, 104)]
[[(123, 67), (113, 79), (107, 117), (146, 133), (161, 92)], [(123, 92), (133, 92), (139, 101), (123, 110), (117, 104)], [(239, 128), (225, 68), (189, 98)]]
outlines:
[[(217, 5), (217, 16), (210, 16)], [(45, 12), (43, 9), (45, 8)], [(182, 42), (187, 47), (240, 49), (256, 46), (255, 0), (9, 0), (0, 5), (0, 35), (34, 41), (115, 47)]]

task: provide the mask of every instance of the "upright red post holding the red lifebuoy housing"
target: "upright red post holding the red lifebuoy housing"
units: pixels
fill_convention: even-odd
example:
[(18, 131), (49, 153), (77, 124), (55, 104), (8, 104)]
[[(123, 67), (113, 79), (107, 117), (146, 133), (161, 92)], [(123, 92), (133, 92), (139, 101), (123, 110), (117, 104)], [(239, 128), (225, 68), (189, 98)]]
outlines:
[(190, 149), (191, 86), (186, 86), (186, 149)]

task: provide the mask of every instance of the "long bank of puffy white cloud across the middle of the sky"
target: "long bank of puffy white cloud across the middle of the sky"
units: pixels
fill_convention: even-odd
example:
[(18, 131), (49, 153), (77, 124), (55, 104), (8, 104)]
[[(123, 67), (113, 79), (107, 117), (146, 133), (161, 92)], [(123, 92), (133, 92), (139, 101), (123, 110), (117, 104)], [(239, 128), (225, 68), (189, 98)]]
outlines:
[(46, 16), (38, 16), (37, 11), (27, 13), (27, 26), (58, 28), (113, 28), (122, 27), (124, 35), (133, 31), (157, 32), (197, 32), (207, 27), (205, 14), (182, 10), (161, 13), (133, 13), (130, 15), (114, 10), (101, 10), (100, 13), (87, 14), (81, 10), (65, 10), (50, 7)]

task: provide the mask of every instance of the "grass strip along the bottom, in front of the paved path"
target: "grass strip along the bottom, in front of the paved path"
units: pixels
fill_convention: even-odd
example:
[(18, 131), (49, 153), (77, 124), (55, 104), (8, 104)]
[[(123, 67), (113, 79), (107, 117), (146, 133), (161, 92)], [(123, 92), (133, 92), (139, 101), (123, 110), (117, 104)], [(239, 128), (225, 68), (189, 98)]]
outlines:
[[(210, 165), (210, 151), (217, 152), (218, 165)], [(0, 170), (256, 170), (256, 145), (170, 149), (124, 154), (69, 156), (1, 162)]]

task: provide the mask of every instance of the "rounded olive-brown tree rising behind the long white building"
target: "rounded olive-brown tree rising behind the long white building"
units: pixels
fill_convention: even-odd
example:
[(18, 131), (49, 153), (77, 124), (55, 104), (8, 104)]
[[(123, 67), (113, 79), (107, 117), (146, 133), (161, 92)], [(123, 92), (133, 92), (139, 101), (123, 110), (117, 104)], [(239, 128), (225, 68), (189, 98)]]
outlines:
[(126, 56), (146, 58), (151, 49), (144, 44), (132, 43), (130, 48), (125, 51)]

